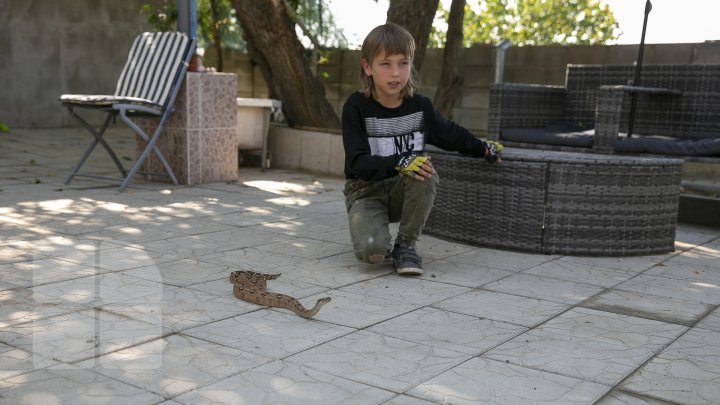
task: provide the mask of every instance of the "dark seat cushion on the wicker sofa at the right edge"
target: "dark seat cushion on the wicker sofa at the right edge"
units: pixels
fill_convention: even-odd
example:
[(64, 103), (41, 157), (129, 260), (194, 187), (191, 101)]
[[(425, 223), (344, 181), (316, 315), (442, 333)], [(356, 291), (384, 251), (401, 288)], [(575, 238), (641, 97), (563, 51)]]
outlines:
[(702, 139), (633, 135), (630, 139), (618, 138), (615, 141), (615, 151), (675, 156), (720, 156), (720, 134), (717, 138)]

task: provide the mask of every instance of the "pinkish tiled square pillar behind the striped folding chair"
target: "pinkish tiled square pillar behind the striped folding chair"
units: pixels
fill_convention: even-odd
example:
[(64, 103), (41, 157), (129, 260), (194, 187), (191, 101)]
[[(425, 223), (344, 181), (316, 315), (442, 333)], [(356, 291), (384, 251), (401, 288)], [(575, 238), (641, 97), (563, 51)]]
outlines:
[[(237, 76), (188, 72), (157, 145), (180, 184), (236, 180), (238, 177)], [(144, 121), (152, 131), (156, 119)], [(137, 141), (138, 155), (145, 143)], [(143, 171), (164, 172), (150, 154)], [(152, 180), (169, 181), (151, 176)]]

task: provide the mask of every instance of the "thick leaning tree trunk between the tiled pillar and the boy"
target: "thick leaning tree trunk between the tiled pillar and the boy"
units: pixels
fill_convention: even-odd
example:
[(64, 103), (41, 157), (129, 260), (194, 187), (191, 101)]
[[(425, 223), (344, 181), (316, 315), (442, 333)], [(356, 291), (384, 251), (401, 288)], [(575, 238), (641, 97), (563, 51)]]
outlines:
[(310, 62), (295, 34), (283, 0), (232, 0), (247, 42), (270, 93), (283, 103), (291, 126), (340, 128), (340, 119), (325, 98), (325, 89), (310, 71)]

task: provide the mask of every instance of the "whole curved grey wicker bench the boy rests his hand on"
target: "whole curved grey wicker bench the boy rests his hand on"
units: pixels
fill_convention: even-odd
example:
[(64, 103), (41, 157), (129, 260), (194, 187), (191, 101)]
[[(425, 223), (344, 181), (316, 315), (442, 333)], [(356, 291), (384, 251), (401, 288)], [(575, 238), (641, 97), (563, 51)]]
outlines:
[(502, 165), (430, 151), (440, 188), (425, 232), (547, 254), (670, 252), (681, 159), (506, 148)]

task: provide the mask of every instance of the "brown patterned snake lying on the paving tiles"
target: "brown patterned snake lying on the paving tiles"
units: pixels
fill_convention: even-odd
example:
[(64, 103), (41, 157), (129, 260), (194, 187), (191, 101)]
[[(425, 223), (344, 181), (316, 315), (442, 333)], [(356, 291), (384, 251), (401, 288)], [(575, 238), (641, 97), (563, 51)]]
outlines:
[(274, 294), (265, 291), (268, 280), (275, 280), (280, 274), (263, 274), (254, 271), (233, 271), (230, 282), (233, 283), (233, 295), (243, 301), (268, 307), (289, 309), (303, 318), (312, 318), (323, 305), (330, 302), (330, 297), (317, 300), (315, 306), (307, 309), (300, 301), (285, 294)]

